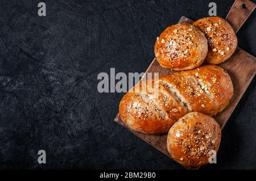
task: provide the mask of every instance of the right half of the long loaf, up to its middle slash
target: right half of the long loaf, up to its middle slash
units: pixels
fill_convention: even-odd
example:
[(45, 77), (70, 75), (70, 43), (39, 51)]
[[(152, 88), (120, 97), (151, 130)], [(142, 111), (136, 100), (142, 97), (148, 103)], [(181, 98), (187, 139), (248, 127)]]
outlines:
[(216, 65), (180, 71), (159, 78), (173, 85), (184, 97), (191, 110), (216, 115), (228, 106), (233, 96), (233, 84), (224, 69)]

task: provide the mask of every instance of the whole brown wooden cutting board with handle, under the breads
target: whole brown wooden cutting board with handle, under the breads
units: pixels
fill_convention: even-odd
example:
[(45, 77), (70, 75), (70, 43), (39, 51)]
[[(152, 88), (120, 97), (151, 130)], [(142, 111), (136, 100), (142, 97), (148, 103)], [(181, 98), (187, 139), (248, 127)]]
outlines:
[[(228, 22), (232, 25), (234, 31), (237, 32), (254, 9), (254, 3), (247, 0), (237, 0), (234, 2), (234, 5), (229, 11), (226, 20), (228, 20)], [(188, 19), (185, 16), (182, 16), (179, 20), (179, 23), (182, 22), (193, 23), (191, 19)], [(242, 95), (245, 93), (247, 87), (250, 85), (251, 80), (254, 78), (254, 75), (256, 73), (256, 58), (251, 54), (245, 52), (241, 48), (237, 48), (236, 52), (232, 54), (229, 60), (226, 60), (224, 63), (219, 64), (219, 66), (228, 71), (234, 86), (234, 96), (230, 100), (229, 105), (222, 112), (218, 113), (218, 115), (214, 116), (214, 119), (217, 120), (221, 128), (224, 128), (225, 124), (229, 120), (229, 117), (232, 115), (232, 112), (242, 98)], [(159, 76), (162, 76), (171, 74), (173, 73), (173, 71), (162, 68), (158, 64), (156, 58), (154, 58), (154, 60), (146, 70), (146, 73), (159, 73)], [(123, 127), (126, 127), (119, 115), (117, 115), (114, 120), (117, 121), (117, 123), (123, 125)], [(149, 135), (132, 131), (129, 128), (127, 129), (171, 158), (171, 155), (168, 153), (166, 146), (167, 134)]]

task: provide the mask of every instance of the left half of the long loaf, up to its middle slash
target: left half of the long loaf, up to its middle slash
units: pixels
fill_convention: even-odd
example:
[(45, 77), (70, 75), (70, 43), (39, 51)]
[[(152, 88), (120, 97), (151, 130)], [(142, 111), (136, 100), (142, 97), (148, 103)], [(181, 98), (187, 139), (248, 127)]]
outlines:
[[(157, 85), (157, 97), (154, 97), (150, 90), (146, 93), (134, 91), (134, 87), (123, 96), (119, 104), (119, 115), (134, 131), (147, 134), (167, 133), (170, 127), (188, 112), (163, 85)], [(139, 83), (140, 88), (141, 86), (142, 82)]]

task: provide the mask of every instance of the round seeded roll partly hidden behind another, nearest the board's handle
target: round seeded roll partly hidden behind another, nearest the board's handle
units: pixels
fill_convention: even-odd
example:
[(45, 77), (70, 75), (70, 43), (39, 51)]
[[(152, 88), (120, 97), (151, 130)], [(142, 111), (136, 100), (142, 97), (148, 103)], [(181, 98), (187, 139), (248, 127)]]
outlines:
[(193, 23), (208, 39), (208, 64), (220, 64), (227, 60), (237, 48), (237, 36), (226, 20), (218, 16), (199, 19)]

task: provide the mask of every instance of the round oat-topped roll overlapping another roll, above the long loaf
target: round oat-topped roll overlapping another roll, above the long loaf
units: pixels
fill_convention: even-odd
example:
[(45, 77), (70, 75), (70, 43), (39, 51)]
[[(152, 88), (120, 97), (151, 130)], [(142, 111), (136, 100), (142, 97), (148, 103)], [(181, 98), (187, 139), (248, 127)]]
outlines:
[(172, 70), (189, 70), (200, 66), (207, 52), (204, 33), (188, 23), (166, 28), (155, 42), (156, 60), (164, 68)]

